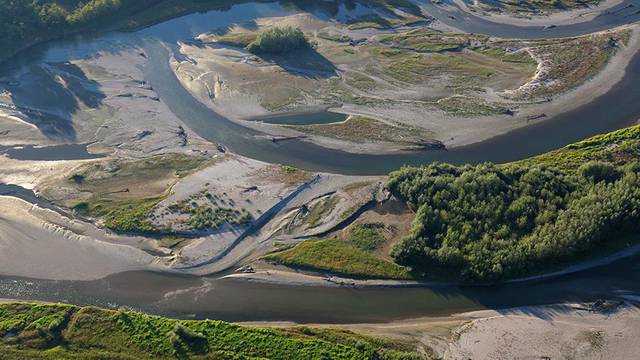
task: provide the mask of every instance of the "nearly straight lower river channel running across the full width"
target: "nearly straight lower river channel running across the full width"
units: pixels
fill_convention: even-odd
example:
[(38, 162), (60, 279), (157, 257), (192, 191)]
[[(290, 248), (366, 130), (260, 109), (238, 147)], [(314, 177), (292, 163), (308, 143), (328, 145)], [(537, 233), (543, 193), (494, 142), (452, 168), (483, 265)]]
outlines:
[(121, 306), (180, 318), (300, 323), (384, 322), (486, 308), (622, 299), (640, 291), (640, 257), (544, 281), (413, 288), (285, 286), (128, 272), (97, 281), (0, 276), (0, 298)]

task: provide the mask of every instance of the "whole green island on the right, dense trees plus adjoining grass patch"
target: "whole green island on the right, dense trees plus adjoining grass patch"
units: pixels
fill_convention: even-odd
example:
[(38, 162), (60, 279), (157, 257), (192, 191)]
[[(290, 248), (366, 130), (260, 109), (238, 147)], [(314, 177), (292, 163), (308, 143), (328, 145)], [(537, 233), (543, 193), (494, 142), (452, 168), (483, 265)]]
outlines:
[(514, 163), (406, 167), (387, 188), (415, 217), (391, 258), (371, 251), (384, 240), (369, 225), (366, 241), (354, 227), (346, 239), (311, 240), (266, 259), (356, 277), (465, 282), (555, 270), (637, 242), (639, 146), (634, 126)]

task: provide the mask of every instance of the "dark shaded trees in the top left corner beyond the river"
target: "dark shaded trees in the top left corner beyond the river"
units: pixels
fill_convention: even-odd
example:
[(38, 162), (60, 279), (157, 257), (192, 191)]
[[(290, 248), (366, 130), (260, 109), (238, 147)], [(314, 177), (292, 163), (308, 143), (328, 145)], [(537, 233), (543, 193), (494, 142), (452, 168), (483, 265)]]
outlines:
[(92, 29), (160, 0), (0, 0), (0, 48), (10, 56), (37, 41)]

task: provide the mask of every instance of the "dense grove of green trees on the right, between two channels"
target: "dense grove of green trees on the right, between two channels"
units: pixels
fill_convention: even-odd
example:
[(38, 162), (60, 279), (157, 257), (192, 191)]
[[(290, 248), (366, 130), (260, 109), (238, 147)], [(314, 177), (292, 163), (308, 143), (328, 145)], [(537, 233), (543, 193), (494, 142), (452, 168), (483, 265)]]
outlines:
[(640, 228), (640, 165), (432, 164), (390, 176), (416, 211), (392, 256), (425, 276), (496, 281), (548, 270)]

